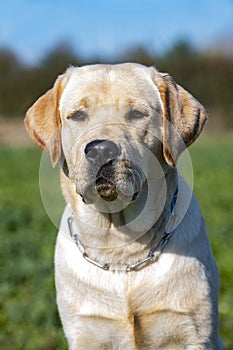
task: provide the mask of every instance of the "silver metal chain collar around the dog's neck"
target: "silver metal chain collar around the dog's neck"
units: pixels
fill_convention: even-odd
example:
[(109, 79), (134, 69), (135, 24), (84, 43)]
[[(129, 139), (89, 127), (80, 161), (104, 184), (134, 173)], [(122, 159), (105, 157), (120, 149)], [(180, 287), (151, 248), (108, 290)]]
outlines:
[[(70, 236), (71, 236), (72, 240), (75, 242), (75, 244), (77, 245), (77, 247), (79, 248), (80, 252), (82, 253), (83, 258), (86, 261), (88, 261), (89, 263), (101, 268), (102, 270), (131, 272), (131, 271), (136, 271), (136, 270), (142, 269), (145, 266), (147, 266), (148, 264), (151, 264), (151, 263), (156, 262), (158, 260), (158, 258), (162, 254), (163, 250), (167, 246), (170, 238), (172, 237), (172, 235), (174, 233), (173, 227), (175, 227), (175, 221), (176, 221), (174, 208), (175, 208), (177, 197), (178, 197), (178, 188), (176, 189), (176, 191), (173, 195), (173, 198), (172, 198), (171, 216), (170, 216), (168, 223), (166, 225), (166, 228), (162, 234), (161, 240), (159, 241), (158, 244), (156, 244), (156, 246), (152, 247), (149, 250), (148, 256), (145, 259), (139, 260), (135, 264), (131, 264), (131, 265), (130, 264), (125, 264), (125, 265), (123, 265), (123, 264), (110, 264), (110, 263), (101, 264), (98, 261), (91, 259), (88, 256), (88, 254), (86, 253), (86, 246), (81, 241), (78, 234), (73, 232), (73, 222), (75, 220), (73, 214), (70, 217), (68, 217), (68, 219), (67, 219), (68, 227), (69, 227), (69, 231), (70, 231)], [(156, 252), (157, 252), (157, 254), (155, 254)]]

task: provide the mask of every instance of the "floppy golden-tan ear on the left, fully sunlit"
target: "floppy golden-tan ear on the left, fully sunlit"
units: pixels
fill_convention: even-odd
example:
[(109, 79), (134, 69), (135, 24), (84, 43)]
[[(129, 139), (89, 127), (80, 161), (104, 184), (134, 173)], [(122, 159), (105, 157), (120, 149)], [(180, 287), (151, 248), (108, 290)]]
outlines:
[(52, 89), (41, 96), (27, 111), (24, 123), (33, 141), (44, 149), (55, 166), (61, 156), (59, 101), (64, 77), (57, 78)]

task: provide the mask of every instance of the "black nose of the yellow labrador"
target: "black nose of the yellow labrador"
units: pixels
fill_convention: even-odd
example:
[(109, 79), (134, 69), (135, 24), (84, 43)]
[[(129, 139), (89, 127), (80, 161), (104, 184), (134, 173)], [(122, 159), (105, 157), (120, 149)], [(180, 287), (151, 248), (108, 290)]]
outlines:
[(86, 158), (99, 165), (103, 165), (121, 155), (120, 147), (113, 141), (94, 140), (85, 147)]

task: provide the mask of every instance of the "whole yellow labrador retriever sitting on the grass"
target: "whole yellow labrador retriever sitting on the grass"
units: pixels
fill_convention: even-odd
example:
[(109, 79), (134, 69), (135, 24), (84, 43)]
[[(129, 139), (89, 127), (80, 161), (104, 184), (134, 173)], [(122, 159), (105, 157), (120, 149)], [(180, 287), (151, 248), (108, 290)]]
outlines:
[(223, 349), (218, 271), (177, 172), (202, 105), (139, 64), (70, 68), (27, 112), (61, 164), (57, 303), (72, 350)]

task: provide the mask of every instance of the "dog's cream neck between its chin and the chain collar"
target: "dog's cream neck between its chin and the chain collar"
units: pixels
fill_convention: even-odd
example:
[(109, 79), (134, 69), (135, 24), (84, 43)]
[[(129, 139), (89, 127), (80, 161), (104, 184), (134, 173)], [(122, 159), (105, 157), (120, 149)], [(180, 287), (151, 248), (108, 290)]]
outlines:
[(99, 211), (98, 206), (83, 203), (75, 186), (66, 185), (72, 193), (66, 200), (71, 205), (79, 238), (88, 255), (102, 263), (135, 263), (145, 258), (150, 248), (161, 240), (171, 215), (177, 176), (175, 169), (167, 173), (166, 198), (162, 184), (157, 182), (153, 190), (150, 189), (149, 199), (144, 188), (136, 201), (117, 212), (109, 212), (108, 208)]

